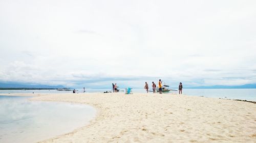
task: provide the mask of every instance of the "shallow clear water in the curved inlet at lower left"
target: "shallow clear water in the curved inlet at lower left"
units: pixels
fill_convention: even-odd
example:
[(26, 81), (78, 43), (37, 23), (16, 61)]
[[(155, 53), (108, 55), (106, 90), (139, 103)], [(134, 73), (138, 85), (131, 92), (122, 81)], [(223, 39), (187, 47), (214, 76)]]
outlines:
[(91, 106), (28, 98), (0, 96), (0, 142), (37, 142), (72, 132), (95, 116)]

